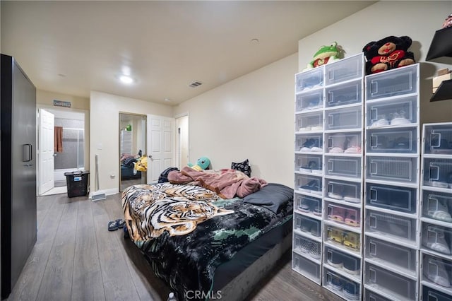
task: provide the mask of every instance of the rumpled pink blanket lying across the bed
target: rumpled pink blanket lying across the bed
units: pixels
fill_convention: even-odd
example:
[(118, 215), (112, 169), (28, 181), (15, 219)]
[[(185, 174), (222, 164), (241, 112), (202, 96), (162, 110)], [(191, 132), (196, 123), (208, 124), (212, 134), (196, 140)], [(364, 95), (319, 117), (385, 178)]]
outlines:
[(168, 174), (172, 184), (192, 184), (215, 191), (222, 199), (232, 199), (234, 196), (243, 198), (264, 187), (267, 182), (257, 177), (248, 177), (238, 170), (203, 170), (198, 172), (191, 167), (172, 171)]

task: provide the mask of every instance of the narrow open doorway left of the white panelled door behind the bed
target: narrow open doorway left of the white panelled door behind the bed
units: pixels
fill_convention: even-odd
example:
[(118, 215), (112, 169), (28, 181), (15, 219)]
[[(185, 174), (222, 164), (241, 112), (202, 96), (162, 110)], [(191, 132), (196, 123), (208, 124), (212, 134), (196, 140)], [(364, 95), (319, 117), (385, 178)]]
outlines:
[(135, 163), (146, 153), (146, 115), (119, 113), (119, 191), (146, 182)]

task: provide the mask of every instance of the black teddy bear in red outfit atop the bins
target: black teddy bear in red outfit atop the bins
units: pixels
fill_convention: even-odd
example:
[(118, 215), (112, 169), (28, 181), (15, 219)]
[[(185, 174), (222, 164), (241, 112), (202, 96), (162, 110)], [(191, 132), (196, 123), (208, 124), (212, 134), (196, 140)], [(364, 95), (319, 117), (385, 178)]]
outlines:
[(385, 37), (367, 43), (362, 49), (366, 57), (366, 73), (378, 73), (402, 66), (415, 64), (415, 55), (408, 51), (411, 38), (407, 36)]

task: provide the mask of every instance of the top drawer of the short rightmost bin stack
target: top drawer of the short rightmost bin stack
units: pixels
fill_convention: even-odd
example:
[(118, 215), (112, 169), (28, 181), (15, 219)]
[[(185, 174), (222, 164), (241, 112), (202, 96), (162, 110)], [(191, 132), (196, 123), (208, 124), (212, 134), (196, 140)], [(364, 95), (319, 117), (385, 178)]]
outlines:
[(452, 123), (424, 124), (424, 153), (452, 155)]

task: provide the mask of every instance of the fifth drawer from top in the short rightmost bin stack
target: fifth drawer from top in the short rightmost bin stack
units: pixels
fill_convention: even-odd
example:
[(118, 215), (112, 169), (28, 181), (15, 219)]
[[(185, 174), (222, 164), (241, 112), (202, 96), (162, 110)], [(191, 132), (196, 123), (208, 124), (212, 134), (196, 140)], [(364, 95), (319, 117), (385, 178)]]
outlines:
[(452, 261), (422, 253), (423, 281), (446, 288), (452, 294)]

